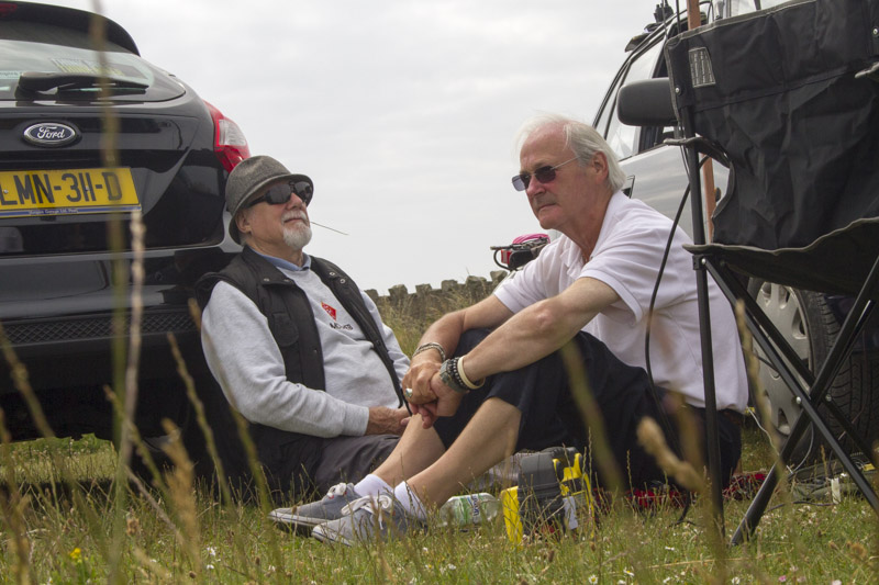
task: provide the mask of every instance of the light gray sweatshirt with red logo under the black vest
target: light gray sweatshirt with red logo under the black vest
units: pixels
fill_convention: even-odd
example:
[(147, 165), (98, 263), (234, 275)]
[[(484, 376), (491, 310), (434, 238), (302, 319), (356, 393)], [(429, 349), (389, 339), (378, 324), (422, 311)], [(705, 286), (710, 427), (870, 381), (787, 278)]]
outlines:
[[(211, 372), (230, 403), (251, 423), (316, 437), (364, 435), (370, 406), (396, 408), (399, 404), (387, 368), (318, 274), (308, 268), (278, 269), (305, 292), (311, 303), (323, 350), (325, 392), (287, 380), (266, 317), (244, 293), (222, 281), (214, 286), (202, 315), (202, 346)], [(381, 323), (372, 300), (360, 294), (383, 331), (385, 345), (402, 379), (409, 358), (393, 331)]]

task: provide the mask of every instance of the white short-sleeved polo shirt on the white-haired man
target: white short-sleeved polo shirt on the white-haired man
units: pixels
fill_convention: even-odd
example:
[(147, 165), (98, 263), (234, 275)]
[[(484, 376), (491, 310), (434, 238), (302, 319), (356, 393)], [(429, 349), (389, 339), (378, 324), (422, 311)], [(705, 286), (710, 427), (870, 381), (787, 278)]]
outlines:
[[(616, 192), (588, 262), (574, 241), (560, 236), (536, 260), (508, 278), (494, 295), (518, 313), (559, 294), (577, 279), (600, 280), (620, 300), (582, 330), (603, 341), (623, 362), (646, 369), (647, 313), (670, 229), (666, 216)], [(650, 369), (658, 386), (680, 392), (689, 404), (704, 407), (696, 273), (692, 256), (682, 248), (690, 243), (677, 228), (654, 304)], [(711, 278), (709, 291), (717, 409), (744, 412), (747, 378), (733, 311)]]

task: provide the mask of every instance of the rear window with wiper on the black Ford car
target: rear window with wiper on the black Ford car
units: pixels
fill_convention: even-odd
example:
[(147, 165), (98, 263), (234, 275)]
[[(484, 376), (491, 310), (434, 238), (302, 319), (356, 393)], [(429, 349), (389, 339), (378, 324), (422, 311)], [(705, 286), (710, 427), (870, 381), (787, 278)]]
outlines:
[[(112, 43), (103, 54), (92, 50), (88, 34), (34, 22), (4, 22), (0, 27), (0, 100), (93, 101), (96, 83), (64, 79), (69, 75), (99, 76), (113, 82), (112, 101), (163, 101), (185, 92), (167, 74)], [(36, 90), (22, 87), (22, 74), (55, 76), (57, 87), (41, 80)]]

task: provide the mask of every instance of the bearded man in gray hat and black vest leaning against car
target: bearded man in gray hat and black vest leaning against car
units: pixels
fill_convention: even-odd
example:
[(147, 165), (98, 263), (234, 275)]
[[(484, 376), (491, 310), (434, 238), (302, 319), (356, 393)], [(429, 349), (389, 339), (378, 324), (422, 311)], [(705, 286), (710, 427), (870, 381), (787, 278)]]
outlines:
[[(275, 495), (293, 499), (358, 481), (390, 453), (409, 417), (400, 389), (409, 359), (375, 303), (337, 266), (303, 250), (313, 192), (311, 179), (271, 157), (238, 164), (225, 196), (229, 233), (244, 248), (197, 285), (211, 372), (249, 423)], [(209, 417), (220, 410), (205, 406)], [(234, 426), (223, 434), (235, 436)], [(246, 475), (246, 461), (237, 466), (225, 471)]]

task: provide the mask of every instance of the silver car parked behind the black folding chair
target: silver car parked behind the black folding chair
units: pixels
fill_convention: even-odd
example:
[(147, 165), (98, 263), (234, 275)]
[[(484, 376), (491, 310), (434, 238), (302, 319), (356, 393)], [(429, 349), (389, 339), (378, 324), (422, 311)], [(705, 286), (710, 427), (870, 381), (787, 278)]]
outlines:
[[(779, 0), (763, 0), (753, 4), (703, 1), (702, 20), (706, 22), (715, 18), (736, 15), (720, 13), (731, 8), (749, 12), (781, 3), (783, 2)], [(625, 47), (626, 57), (593, 122), (621, 158), (622, 167), (628, 176), (627, 194), (645, 201), (669, 217), (677, 213), (689, 182), (681, 149), (664, 145), (666, 138), (674, 137), (675, 128), (623, 124), (617, 116), (617, 98), (620, 88), (628, 83), (668, 77), (663, 55), (665, 41), (686, 27), (686, 14), (675, 15), (666, 1), (657, 5), (654, 22), (643, 33), (634, 36)], [(643, 105), (646, 108), (649, 104)], [(663, 117), (659, 115), (656, 120)], [(719, 198), (723, 196), (726, 179), (726, 169), (714, 164), (714, 184), (720, 189)], [(680, 223), (688, 233), (692, 233), (689, 206), (683, 210)], [(748, 290), (806, 363), (823, 362), (853, 302), (844, 296), (819, 294), (755, 280), (748, 282)], [(836, 405), (870, 441), (879, 439), (878, 374), (879, 325), (874, 319), (832, 389)], [(778, 373), (765, 360), (761, 362), (760, 381), (772, 407), (772, 423), (782, 434), (788, 434), (799, 416), (800, 406)], [(798, 455), (801, 457), (799, 460), (820, 457), (817, 447), (820, 445), (813, 440), (810, 431), (798, 450)]]

